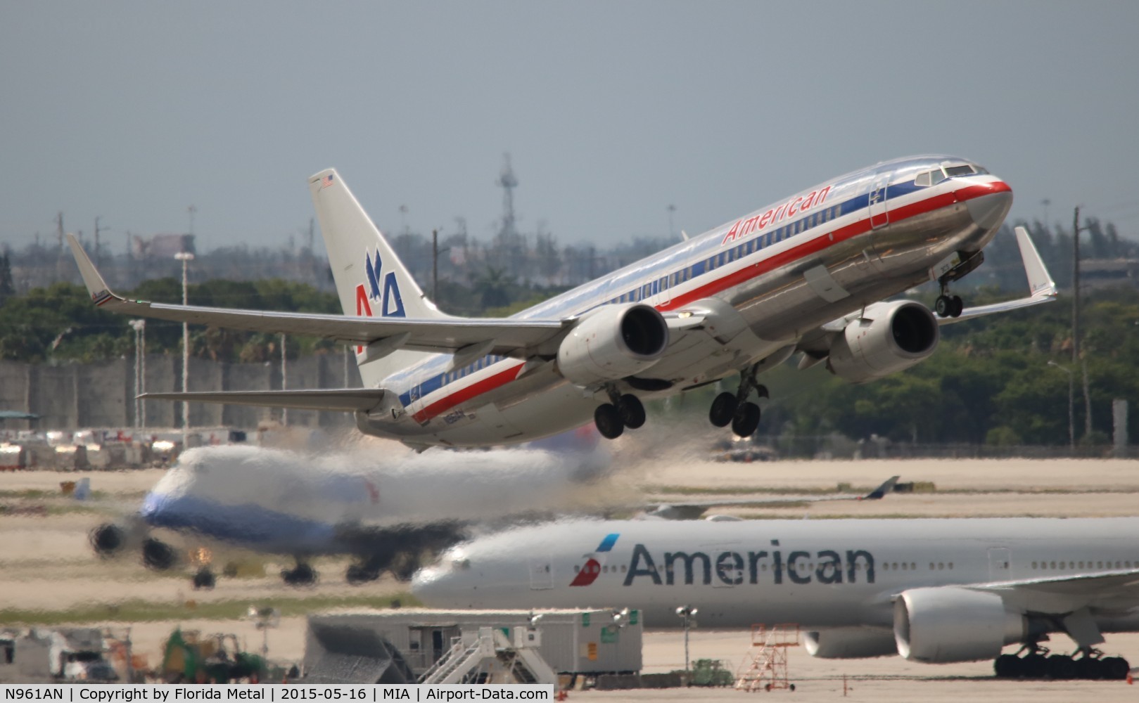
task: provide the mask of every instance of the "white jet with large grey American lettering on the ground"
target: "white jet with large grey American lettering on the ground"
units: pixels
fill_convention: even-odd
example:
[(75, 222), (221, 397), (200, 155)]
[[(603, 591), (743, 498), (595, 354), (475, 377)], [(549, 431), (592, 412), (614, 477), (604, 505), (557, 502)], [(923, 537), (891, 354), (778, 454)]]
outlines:
[[(442, 609), (638, 609), (649, 627), (687, 607), (713, 628), (798, 623), (820, 657), (1123, 678), (1099, 645), (1139, 631), (1136, 534), (1139, 518), (572, 520), (452, 547), (412, 592)], [(1071, 655), (1048, 655), (1055, 632)]]

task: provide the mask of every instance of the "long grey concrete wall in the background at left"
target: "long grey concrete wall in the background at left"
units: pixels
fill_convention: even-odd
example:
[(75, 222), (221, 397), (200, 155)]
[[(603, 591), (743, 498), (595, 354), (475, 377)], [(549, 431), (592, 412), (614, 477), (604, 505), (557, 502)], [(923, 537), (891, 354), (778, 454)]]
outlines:
[[(191, 358), (189, 389), (195, 390), (274, 390), (281, 387), (280, 362), (228, 364)], [(344, 387), (344, 359), (339, 353), (309, 356), (288, 363), (287, 387), (292, 389)], [(349, 387), (360, 387), (354, 363), (349, 367)], [(178, 391), (182, 388), (180, 356), (147, 355), (146, 390)], [(5, 430), (55, 430), (84, 427), (133, 427), (134, 359), (122, 358), (98, 364), (22, 364), (0, 361), (0, 410), (26, 411), (40, 420), (7, 421)], [(182, 404), (147, 400), (146, 427), (180, 427)], [(192, 427), (256, 428), (263, 420), (280, 419), (280, 408), (238, 405), (190, 404)], [(293, 410), (290, 425), (343, 427), (352, 424), (345, 413), (319, 413)]]

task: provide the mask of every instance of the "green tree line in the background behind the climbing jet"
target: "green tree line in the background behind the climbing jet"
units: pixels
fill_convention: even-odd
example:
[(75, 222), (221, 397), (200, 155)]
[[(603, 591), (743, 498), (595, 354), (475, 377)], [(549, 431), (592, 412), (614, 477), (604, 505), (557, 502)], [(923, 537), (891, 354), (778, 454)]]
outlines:
[[(1093, 224), (1084, 247), (1087, 256), (1136, 256), (1139, 247), (1121, 239), (1114, 226)], [(1050, 232), (1039, 223), (1032, 229), (1054, 278), (1062, 284), (1071, 281), (1071, 234)], [(961, 282), (973, 279), (975, 283), (967, 303), (981, 305), (1023, 295), (1025, 280), (1011, 233), (1000, 233), (985, 253), (985, 265)], [(441, 281), (440, 306), (454, 314), (501, 316), (565, 289), (519, 282), (494, 267), (472, 279), (469, 284)], [(954, 290), (967, 288), (957, 286)], [(182, 289), (179, 280), (163, 278), (145, 281), (126, 295), (180, 303)], [(921, 295), (932, 304), (935, 290), (929, 288)], [(341, 312), (335, 293), (279, 279), (210, 280), (190, 284), (188, 297), (192, 305)], [(1081, 358), (1075, 363), (1071, 355), (1071, 298), (1062, 296), (1057, 303), (947, 325), (941, 347), (931, 358), (865, 384), (846, 383), (821, 365), (802, 372), (793, 364), (785, 365), (763, 378), (771, 389), (771, 403), (764, 410), (760, 432), (769, 438), (837, 432), (851, 438), (877, 435), (916, 444), (1063, 445), (1068, 441), (1071, 372), (1076, 439), (1101, 444), (1112, 428), (1112, 400), (1139, 398), (1139, 290), (1112, 288), (1085, 293)], [(151, 354), (180, 354), (181, 324), (148, 320), (146, 344)], [(190, 328), (190, 353), (203, 358), (270, 361), (279, 357), (279, 345), (277, 334)], [(339, 349), (329, 340), (289, 337), (286, 354), (295, 358)], [(133, 354), (130, 321), (91, 305), (80, 286), (59, 282), (24, 295), (9, 291), (0, 305), (0, 358), (91, 363)], [(1084, 365), (1091, 435), (1084, 431), (1089, 411), (1082, 392)], [(695, 402), (686, 404), (690, 408), (699, 406)], [(1139, 419), (1139, 412), (1131, 416)], [(1130, 425), (1131, 435), (1139, 437), (1139, 422)]]

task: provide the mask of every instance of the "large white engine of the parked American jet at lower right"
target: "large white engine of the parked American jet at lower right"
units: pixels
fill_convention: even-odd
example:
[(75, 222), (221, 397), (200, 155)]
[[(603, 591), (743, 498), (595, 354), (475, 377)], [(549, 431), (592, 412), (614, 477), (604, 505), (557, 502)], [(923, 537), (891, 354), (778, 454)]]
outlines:
[(926, 663), (995, 659), (1024, 642), (1027, 620), (995, 593), (947, 586), (903, 590), (894, 601), (898, 653)]

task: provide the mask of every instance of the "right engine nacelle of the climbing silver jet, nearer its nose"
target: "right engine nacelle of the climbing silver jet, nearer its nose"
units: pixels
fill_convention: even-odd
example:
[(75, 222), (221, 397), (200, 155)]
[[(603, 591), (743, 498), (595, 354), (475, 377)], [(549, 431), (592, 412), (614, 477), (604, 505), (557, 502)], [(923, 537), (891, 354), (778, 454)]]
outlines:
[(940, 340), (926, 306), (911, 300), (871, 305), (834, 341), (827, 369), (853, 383), (880, 379), (926, 358)]

